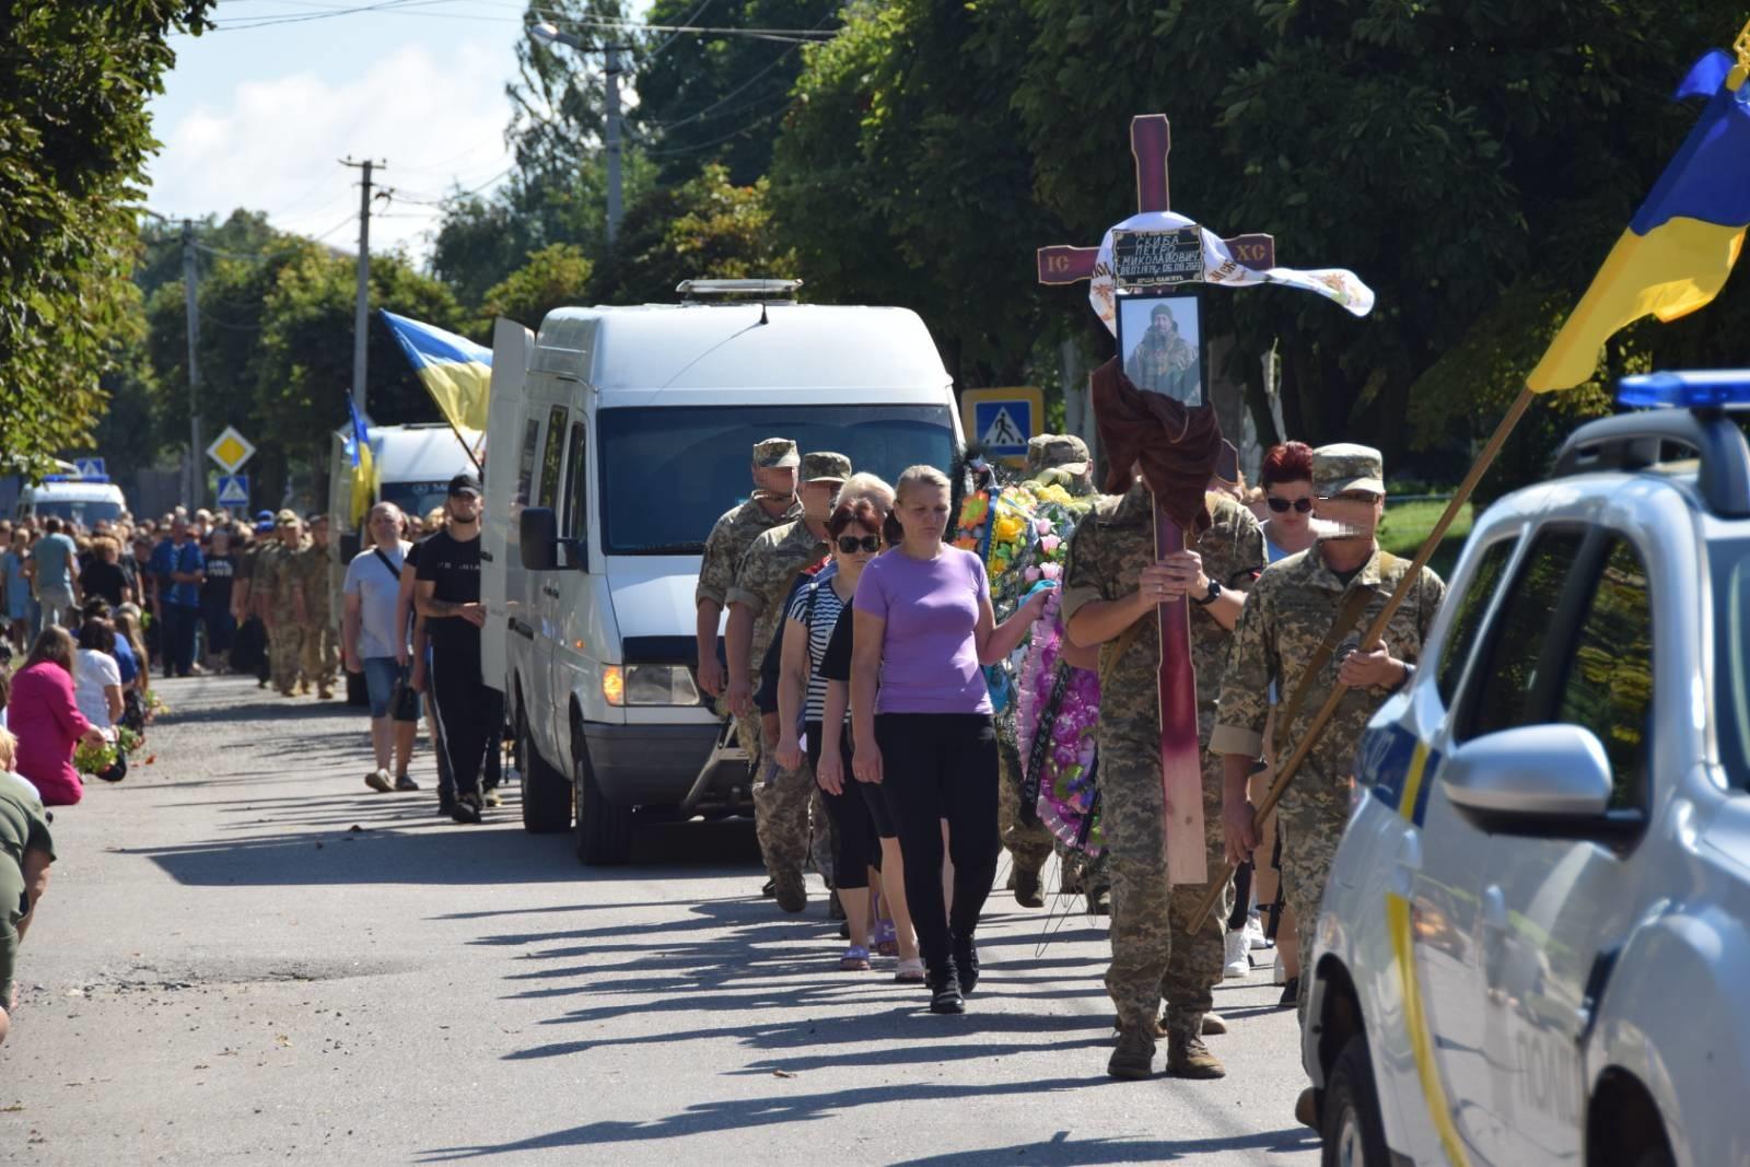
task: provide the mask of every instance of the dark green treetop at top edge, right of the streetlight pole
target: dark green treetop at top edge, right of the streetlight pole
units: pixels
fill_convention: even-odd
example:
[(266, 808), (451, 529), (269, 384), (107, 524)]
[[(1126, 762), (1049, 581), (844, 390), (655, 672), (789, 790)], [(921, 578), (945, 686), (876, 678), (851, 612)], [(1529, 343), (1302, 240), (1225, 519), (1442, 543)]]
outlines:
[[(654, 0), (651, 24), (831, 28), (842, 0)], [(772, 142), (791, 105), (802, 45), (752, 37), (646, 33), (635, 54), (639, 105), (632, 126), (663, 182), (723, 163), (752, 185), (772, 164)]]

